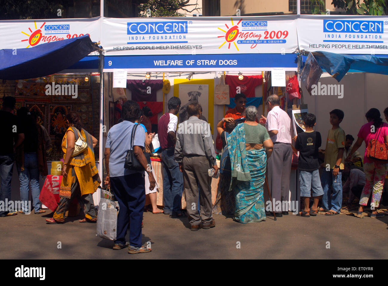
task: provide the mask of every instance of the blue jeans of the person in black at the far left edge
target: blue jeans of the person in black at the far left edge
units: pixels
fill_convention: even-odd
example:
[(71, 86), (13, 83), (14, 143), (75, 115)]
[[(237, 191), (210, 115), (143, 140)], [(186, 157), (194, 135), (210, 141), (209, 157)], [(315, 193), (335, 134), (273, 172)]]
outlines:
[[(11, 200), (11, 180), (14, 171), (14, 155), (0, 155), (0, 201), (5, 205), (5, 199)], [(0, 217), (5, 217), (8, 210), (0, 211)]]

